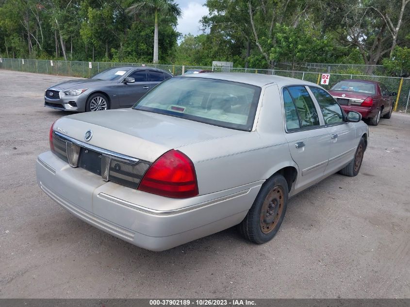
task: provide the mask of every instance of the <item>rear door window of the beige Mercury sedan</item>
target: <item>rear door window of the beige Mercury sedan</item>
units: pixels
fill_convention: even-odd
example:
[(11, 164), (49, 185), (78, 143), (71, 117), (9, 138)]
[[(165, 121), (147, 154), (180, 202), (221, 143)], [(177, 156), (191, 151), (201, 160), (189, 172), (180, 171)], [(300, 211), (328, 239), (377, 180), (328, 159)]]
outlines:
[(287, 90), (295, 104), (300, 128), (320, 126), (316, 107), (306, 88), (304, 86), (290, 86)]

